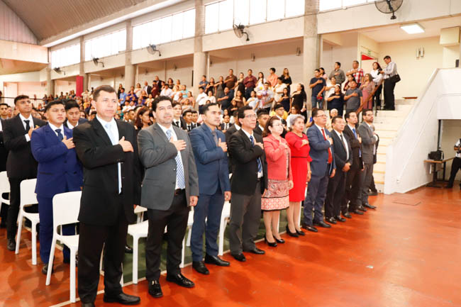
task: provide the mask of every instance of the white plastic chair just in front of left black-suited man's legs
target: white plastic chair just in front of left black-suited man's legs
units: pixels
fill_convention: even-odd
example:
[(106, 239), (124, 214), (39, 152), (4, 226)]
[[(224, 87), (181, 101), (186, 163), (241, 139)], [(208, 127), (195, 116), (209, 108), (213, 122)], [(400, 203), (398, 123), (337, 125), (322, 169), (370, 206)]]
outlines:
[(32, 223), (32, 264), (37, 264), (37, 224), (40, 223), (38, 213), (28, 213), (24, 211), (26, 205), (38, 203), (35, 194), (35, 184), (37, 179), (26, 179), (21, 182), (21, 204), (18, 216), (18, 236), (16, 237), (16, 254), (19, 253), (19, 243), (21, 242), (21, 230), (23, 228), (23, 218), (28, 218)]

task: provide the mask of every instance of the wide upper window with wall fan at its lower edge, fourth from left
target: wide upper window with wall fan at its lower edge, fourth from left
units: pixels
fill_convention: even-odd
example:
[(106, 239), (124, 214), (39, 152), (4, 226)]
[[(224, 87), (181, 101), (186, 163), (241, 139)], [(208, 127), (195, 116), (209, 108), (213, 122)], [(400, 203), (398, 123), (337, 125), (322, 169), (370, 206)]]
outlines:
[(232, 28), (233, 24), (247, 26), (301, 16), (304, 14), (304, 1), (221, 0), (208, 4), (205, 6), (205, 33), (228, 30)]

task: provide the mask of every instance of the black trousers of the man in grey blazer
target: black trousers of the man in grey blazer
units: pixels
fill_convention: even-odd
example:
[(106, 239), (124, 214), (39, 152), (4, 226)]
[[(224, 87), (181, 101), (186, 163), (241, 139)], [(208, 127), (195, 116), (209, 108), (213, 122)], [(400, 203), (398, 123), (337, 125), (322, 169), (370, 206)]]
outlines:
[(181, 269), (182, 240), (186, 234), (190, 208), (186, 193), (175, 195), (168, 210), (148, 209), (149, 230), (145, 242), (145, 278), (153, 281), (160, 278), (160, 255), (165, 226), (168, 230), (167, 274), (179, 274)]

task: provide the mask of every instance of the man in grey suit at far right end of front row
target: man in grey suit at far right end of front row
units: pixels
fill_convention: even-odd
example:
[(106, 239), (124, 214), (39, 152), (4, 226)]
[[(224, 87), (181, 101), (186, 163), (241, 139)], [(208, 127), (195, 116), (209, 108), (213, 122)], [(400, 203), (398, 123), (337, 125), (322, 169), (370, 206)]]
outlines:
[(374, 116), (373, 111), (370, 109), (363, 110), (363, 122), (359, 125), (359, 135), (362, 137), (362, 160), (364, 170), (360, 174), (360, 191), (357, 199), (357, 205), (375, 209), (376, 206), (368, 203), (368, 187), (372, 181), (373, 176), (373, 156), (376, 152), (376, 143), (378, 135), (373, 132)]

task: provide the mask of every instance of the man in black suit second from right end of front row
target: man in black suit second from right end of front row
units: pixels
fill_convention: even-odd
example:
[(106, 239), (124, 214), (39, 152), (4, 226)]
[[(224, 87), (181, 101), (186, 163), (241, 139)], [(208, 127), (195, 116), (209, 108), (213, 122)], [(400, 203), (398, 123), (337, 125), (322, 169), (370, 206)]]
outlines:
[(346, 176), (345, 197), (343, 198), (343, 205), (341, 208), (347, 208), (349, 203), (348, 210), (342, 213), (346, 218), (350, 218), (350, 215), (346, 213), (363, 215), (362, 211), (367, 211), (367, 209), (362, 206), (357, 206), (357, 197), (360, 190), (360, 172), (362, 172), (363, 169), (362, 138), (360, 138), (357, 128), (355, 128), (357, 124), (357, 113), (345, 113), (345, 120), (348, 124), (345, 125), (344, 134), (350, 140), (350, 147), (352, 148), (352, 165)]

